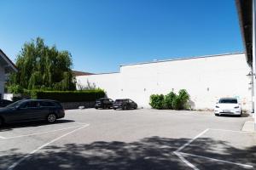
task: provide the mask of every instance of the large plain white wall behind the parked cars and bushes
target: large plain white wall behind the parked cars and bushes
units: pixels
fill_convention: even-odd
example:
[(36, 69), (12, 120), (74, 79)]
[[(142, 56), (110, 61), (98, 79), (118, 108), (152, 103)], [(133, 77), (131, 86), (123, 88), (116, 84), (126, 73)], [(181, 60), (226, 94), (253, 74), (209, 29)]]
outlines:
[(236, 97), (243, 109), (251, 110), (250, 71), (245, 54), (224, 54), (123, 65), (120, 73), (77, 80), (84, 85), (87, 81), (95, 83), (107, 91), (109, 98), (130, 98), (143, 107), (150, 107), (151, 94), (177, 93), (184, 88), (195, 109), (212, 109), (219, 98)]

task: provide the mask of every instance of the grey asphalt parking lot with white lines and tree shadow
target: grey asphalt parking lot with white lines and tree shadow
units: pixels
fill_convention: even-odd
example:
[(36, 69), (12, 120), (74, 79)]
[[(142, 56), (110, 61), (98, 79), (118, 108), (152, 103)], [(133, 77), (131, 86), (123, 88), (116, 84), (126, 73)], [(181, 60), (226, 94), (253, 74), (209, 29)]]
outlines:
[(0, 129), (0, 169), (255, 169), (245, 115), (73, 110), (55, 124)]

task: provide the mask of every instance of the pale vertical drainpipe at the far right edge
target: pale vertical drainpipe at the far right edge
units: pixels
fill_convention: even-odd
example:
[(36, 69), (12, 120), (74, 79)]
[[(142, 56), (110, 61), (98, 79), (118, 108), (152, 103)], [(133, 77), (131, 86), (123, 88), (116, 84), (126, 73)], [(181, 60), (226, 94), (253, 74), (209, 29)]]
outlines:
[(254, 129), (256, 130), (256, 99), (255, 99), (255, 94), (256, 94), (256, 0), (253, 0), (253, 105), (254, 105), (254, 112), (253, 112), (253, 117), (254, 117)]

